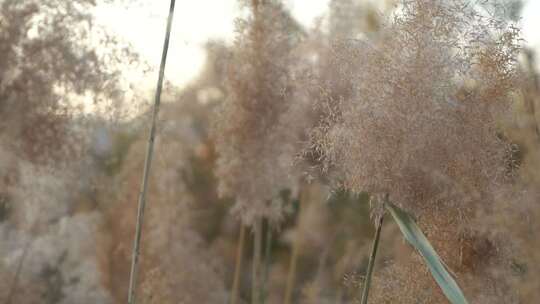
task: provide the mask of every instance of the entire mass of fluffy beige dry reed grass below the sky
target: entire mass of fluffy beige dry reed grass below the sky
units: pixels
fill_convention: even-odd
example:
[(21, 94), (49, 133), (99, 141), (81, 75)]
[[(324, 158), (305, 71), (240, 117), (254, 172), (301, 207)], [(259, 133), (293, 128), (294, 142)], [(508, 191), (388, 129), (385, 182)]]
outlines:
[[(314, 29), (281, 1), (240, 3), (234, 43), (209, 43), (199, 78), (164, 92), (140, 302), (356, 303), (368, 201), (386, 193), (470, 303), (534, 302), (540, 92), (519, 29), (465, 0), (389, 1), (380, 15), (334, 0)], [(82, 39), (93, 5), (0, 1), (1, 282), (31, 249), (12, 303), (127, 300), (148, 112), (115, 124), (65, 102), (122, 98), (122, 56)], [(38, 16), (42, 35), (27, 36)], [(265, 265), (257, 222), (274, 228)], [(446, 303), (385, 222), (368, 303)]]

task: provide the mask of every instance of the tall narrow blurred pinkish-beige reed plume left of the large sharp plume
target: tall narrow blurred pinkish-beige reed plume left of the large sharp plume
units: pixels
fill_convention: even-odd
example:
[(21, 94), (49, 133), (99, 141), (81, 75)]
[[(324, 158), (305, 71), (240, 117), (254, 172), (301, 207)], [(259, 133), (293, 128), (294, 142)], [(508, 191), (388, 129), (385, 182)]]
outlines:
[(216, 175), (223, 196), (235, 197), (245, 223), (279, 221), (279, 192), (290, 188), (290, 140), (281, 121), (292, 90), (295, 23), (279, 1), (243, 2), (250, 15), (236, 21), (227, 99), (214, 126)]

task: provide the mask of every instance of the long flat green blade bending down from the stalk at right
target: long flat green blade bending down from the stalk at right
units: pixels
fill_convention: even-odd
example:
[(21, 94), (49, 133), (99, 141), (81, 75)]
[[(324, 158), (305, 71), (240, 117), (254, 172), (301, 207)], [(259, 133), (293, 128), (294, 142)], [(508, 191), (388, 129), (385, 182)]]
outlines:
[(386, 203), (386, 208), (392, 214), (405, 239), (424, 258), (431, 275), (437, 281), (446, 298), (452, 304), (468, 304), (456, 281), (448, 273), (441, 258), (435, 249), (433, 249), (433, 246), (431, 246), (422, 230), (416, 225), (413, 218), (407, 212), (389, 202)]

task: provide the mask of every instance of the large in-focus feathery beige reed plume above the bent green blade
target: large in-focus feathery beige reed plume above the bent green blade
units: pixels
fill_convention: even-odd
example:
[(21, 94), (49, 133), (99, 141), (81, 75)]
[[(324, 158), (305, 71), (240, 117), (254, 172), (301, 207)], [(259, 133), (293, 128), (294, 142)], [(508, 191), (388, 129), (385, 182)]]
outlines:
[[(484, 270), (498, 261), (496, 245), (469, 224), (512, 178), (499, 122), (519, 80), (519, 50), (515, 26), (466, 1), (400, 1), (377, 36), (334, 47), (350, 92), (318, 99), (323, 111), (306, 150), (334, 186), (388, 194), (418, 217), (460, 278), (493, 280), (495, 290), (504, 283)], [(401, 273), (393, 279), (407, 284)], [(413, 303), (436, 290), (428, 276), (415, 275), (408, 296), (391, 289), (373, 296)], [(375, 285), (392, 282), (381, 280)], [(476, 299), (495, 291), (469, 285), (468, 292)], [(433, 294), (431, 302), (443, 301)]]

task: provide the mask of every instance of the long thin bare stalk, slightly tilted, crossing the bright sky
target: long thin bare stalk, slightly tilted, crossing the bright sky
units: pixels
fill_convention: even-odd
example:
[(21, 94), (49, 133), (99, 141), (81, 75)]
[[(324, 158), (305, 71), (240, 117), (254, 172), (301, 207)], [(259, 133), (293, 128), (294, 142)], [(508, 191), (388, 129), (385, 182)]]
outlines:
[(169, 8), (169, 17), (167, 19), (167, 29), (165, 34), (165, 42), (163, 44), (163, 53), (161, 56), (161, 65), (159, 67), (159, 78), (154, 99), (154, 110), (152, 113), (152, 126), (148, 137), (148, 145), (146, 150), (146, 158), (144, 160), (144, 171), (139, 192), (138, 210), (137, 210), (137, 226), (135, 227), (135, 239), (133, 243), (133, 251), (131, 258), (131, 271), (129, 276), (128, 304), (135, 304), (135, 286), (137, 283), (137, 268), (139, 261), (141, 234), (144, 218), (144, 207), (146, 205), (146, 193), (148, 190), (148, 176), (152, 164), (152, 155), (154, 153), (154, 141), (156, 137), (156, 122), (159, 113), (159, 105), (161, 103), (161, 92), (163, 90), (163, 79), (165, 78), (165, 65), (167, 63), (167, 53), (169, 51), (169, 40), (171, 37), (172, 21), (174, 16), (174, 6), (176, 0), (171, 0)]

